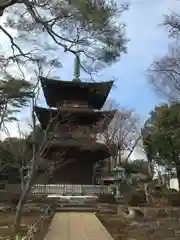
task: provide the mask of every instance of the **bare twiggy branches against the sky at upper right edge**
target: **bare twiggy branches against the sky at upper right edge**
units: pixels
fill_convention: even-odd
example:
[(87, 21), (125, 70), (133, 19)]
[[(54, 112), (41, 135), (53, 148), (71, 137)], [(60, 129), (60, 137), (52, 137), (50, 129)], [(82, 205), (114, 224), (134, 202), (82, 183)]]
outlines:
[(180, 95), (180, 15), (172, 12), (165, 16), (163, 27), (173, 40), (168, 53), (155, 60), (147, 71), (150, 84), (162, 98), (170, 102), (179, 100)]

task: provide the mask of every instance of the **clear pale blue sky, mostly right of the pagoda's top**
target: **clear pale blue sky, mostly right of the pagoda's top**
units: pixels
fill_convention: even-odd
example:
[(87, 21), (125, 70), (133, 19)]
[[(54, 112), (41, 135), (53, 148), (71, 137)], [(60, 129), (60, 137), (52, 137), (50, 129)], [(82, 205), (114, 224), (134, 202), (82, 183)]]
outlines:
[[(123, 15), (127, 37), (130, 39), (128, 53), (118, 63), (99, 73), (99, 80), (116, 79), (116, 88), (111, 91), (110, 97), (121, 106), (134, 109), (142, 120), (147, 118), (149, 111), (160, 101), (144, 74), (155, 58), (168, 51), (166, 30), (158, 25), (163, 22), (164, 14), (177, 7), (180, 7), (178, 0), (130, 0), (130, 9)], [(7, 48), (5, 36), (1, 37), (0, 43)], [(60, 79), (72, 79), (73, 67), (70, 66), (73, 61), (72, 55), (63, 54), (63, 68), (58, 72)], [(26, 116), (24, 113), (25, 121)], [(9, 128), (13, 136), (17, 134), (13, 124)]]

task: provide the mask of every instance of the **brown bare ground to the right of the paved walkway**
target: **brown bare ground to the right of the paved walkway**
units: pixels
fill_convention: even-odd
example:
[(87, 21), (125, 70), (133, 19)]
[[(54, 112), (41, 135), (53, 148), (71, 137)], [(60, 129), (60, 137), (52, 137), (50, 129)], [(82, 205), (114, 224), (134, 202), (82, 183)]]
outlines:
[(165, 212), (162, 209), (154, 212), (156, 216), (126, 218), (122, 214), (98, 214), (98, 217), (115, 240), (179, 240), (180, 215), (159, 214)]

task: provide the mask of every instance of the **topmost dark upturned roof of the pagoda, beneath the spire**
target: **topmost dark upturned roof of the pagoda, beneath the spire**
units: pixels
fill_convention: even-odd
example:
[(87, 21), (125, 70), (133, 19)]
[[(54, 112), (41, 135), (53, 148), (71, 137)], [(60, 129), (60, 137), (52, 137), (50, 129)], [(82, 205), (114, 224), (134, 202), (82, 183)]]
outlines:
[(87, 102), (94, 109), (101, 109), (114, 81), (81, 82), (61, 81), (40, 77), (44, 96), (49, 107), (63, 101)]

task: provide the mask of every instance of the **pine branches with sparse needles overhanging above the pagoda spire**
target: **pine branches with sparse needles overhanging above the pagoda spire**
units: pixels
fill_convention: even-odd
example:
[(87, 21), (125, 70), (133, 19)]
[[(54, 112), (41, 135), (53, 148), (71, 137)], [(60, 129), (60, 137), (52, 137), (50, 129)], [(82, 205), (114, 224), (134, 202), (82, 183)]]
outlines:
[[(27, 57), (22, 42), (24, 49), (30, 46), (31, 54), (32, 50), (50, 54), (60, 47), (73, 54), (81, 53), (82, 67), (88, 71), (87, 65), (92, 66), (94, 61), (96, 67), (111, 64), (126, 51), (125, 25), (119, 19), (126, 4), (118, 7), (114, 0), (10, 2), (13, 4), (7, 9), (5, 26), (17, 30), (18, 37), (13, 38), (3, 26), (0, 30), (10, 38), (18, 54)], [(24, 43), (28, 43), (26, 47)]]

